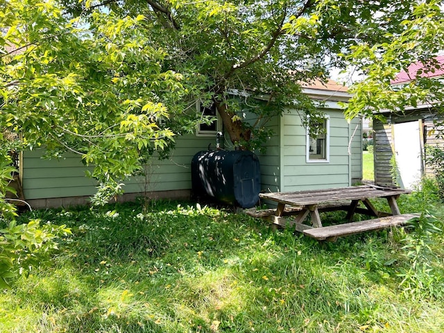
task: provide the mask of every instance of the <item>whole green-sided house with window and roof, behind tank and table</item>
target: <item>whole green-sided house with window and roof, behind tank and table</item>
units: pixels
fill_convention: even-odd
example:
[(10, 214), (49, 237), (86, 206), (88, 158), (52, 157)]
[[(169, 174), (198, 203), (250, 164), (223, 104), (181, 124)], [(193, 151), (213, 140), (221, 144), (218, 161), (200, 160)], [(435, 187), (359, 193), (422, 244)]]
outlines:
[[(346, 88), (329, 82), (305, 87), (311, 99), (323, 101), (326, 132), (309, 137), (298, 110), (287, 110), (268, 126), (275, 135), (259, 156), (263, 191), (297, 191), (344, 187), (362, 178), (361, 122), (345, 121), (339, 101), (348, 101)], [(191, 159), (198, 151), (216, 144), (219, 123), (202, 126), (195, 135), (176, 139), (176, 149), (167, 160), (153, 158), (146, 176), (128, 179), (125, 194), (118, 200), (189, 198)], [(42, 151), (25, 151), (20, 160), (20, 180), (24, 199), (32, 207), (57, 207), (87, 203), (95, 193), (94, 180), (85, 177), (80, 157), (66, 154), (60, 160), (43, 160)]]

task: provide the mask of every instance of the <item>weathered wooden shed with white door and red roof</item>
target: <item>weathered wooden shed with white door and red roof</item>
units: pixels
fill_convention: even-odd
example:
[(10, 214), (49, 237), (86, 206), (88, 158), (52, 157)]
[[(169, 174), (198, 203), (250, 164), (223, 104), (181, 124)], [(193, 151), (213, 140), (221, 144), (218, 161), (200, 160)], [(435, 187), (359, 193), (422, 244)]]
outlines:
[[(417, 62), (402, 71), (392, 81), (394, 88), (407, 85), (417, 76), (441, 79), (444, 76), (444, 56), (436, 58), (441, 66), (427, 71)], [(375, 183), (377, 185), (399, 185), (413, 189), (420, 178), (432, 173), (425, 165), (425, 147), (442, 145), (434, 121), (443, 121), (442, 115), (434, 110), (434, 105), (407, 107), (400, 112), (380, 112), (385, 121), (373, 121)]]

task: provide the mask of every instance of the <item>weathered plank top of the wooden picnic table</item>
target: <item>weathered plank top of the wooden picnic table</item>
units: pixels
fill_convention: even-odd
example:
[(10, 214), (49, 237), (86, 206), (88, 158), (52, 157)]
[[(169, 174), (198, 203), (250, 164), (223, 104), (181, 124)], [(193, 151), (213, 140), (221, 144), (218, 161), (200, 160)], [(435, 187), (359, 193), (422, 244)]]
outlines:
[(261, 198), (294, 206), (318, 205), (339, 200), (364, 200), (409, 194), (409, 189), (378, 187), (370, 185), (339, 187), (335, 189), (316, 189), (295, 192), (276, 192), (259, 194)]

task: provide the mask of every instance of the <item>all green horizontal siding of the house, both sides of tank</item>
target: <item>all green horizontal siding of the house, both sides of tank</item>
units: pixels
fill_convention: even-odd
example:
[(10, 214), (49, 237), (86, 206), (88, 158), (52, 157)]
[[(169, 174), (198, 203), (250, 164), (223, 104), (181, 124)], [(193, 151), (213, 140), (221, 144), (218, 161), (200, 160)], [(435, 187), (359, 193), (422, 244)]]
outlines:
[[(298, 191), (343, 187), (361, 180), (361, 126), (350, 125), (341, 110), (323, 110), (330, 117), (330, 161), (306, 162), (306, 130), (295, 110), (274, 117), (266, 126), (274, 134), (264, 144), (265, 153), (255, 153), (261, 167), (262, 191)], [(357, 127), (358, 125), (358, 127)], [(352, 155), (348, 154), (350, 137)], [(227, 134), (225, 133), (225, 136)], [(225, 142), (228, 138), (225, 139)], [(198, 151), (215, 148), (216, 138), (187, 135), (176, 139), (176, 149), (166, 160), (153, 157), (146, 166), (146, 176), (129, 178), (126, 193), (191, 189), (191, 159)], [(80, 157), (66, 154), (60, 160), (42, 160), (42, 151), (26, 151), (22, 183), (26, 199), (92, 196), (96, 183), (85, 176)]]

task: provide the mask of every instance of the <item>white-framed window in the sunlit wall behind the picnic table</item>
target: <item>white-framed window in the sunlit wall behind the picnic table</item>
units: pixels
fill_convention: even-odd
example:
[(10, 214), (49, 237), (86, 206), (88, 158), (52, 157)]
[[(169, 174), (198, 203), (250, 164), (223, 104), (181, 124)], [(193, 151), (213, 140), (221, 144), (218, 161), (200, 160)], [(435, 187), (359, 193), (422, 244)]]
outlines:
[(330, 117), (319, 125), (321, 133), (316, 136), (311, 136), (307, 127), (307, 162), (330, 161)]

